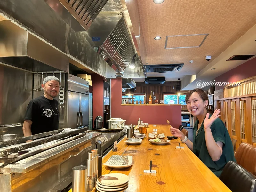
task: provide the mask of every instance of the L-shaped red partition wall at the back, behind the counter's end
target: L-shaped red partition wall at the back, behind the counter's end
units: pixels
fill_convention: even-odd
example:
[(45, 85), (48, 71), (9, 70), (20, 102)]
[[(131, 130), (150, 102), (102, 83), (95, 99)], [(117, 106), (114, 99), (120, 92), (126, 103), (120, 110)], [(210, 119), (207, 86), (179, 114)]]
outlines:
[(143, 120), (148, 124), (170, 124), (178, 128), (181, 125), (181, 105), (122, 106), (122, 79), (111, 79), (111, 117), (126, 120), (125, 124), (138, 124)]

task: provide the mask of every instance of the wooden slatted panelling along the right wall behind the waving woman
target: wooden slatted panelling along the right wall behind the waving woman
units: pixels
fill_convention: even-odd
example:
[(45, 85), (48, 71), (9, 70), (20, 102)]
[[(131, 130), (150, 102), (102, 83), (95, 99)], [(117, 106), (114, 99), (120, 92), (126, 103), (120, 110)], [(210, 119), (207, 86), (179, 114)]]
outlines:
[(214, 92), (215, 109), (221, 110), (235, 152), (242, 142), (256, 146), (256, 76), (240, 83)]

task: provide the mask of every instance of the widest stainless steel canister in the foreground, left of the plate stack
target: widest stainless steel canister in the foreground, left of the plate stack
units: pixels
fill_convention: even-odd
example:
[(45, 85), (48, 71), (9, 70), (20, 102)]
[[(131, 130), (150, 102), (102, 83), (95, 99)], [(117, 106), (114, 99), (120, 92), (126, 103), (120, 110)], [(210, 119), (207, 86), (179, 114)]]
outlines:
[(81, 165), (73, 168), (72, 191), (86, 192), (87, 167)]

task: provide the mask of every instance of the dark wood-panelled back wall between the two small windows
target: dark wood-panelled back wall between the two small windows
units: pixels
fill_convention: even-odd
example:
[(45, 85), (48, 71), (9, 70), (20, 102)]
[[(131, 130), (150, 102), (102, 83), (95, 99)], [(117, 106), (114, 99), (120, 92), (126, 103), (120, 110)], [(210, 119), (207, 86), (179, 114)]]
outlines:
[[(127, 89), (126, 92), (123, 92), (123, 94), (129, 94), (129, 93), (144, 94), (146, 92), (146, 103), (148, 103), (149, 95), (151, 95), (151, 91), (152, 91), (155, 93), (156, 99), (158, 100), (158, 103), (159, 103), (160, 100), (164, 100), (163, 93), (176, 93), (176, 87), (177, 87), (176, 81), (165, 82), (164, 84), (157, 84), (157, 85), (148, 85), (148, 84), (145, 84), (144, 82), (141, 82), (141, 83), (136, 83), (136, 90), (135, 88), (134, 88), (134, 91)], [(180, 92), (187, 93), (187, 91), (180, 91)], [(154, 103), (154, 101), (152, 103)]]

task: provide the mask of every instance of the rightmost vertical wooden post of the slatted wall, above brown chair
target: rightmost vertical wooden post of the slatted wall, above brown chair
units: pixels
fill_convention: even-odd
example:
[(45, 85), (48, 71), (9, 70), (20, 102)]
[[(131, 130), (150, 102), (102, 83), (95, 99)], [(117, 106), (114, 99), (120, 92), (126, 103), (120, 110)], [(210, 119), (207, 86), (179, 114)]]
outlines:
[(245, 98), (244, 109), (244, 126), (245, 126), (245, 138), (247, 143), (252, 144), (252, 99), (251, 97)]

